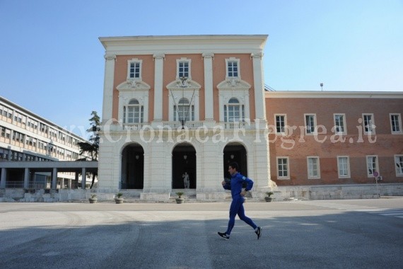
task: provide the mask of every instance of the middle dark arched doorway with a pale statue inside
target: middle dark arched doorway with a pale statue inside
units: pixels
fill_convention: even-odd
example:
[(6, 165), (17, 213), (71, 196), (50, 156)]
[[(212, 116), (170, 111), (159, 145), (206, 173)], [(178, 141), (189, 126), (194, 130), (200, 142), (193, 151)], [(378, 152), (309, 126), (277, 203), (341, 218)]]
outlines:
[[(187, 176), (186, 176), (187, 174)], [(184, 189), (189, 178), (189, 189), (196, 188), (196, 150), (191, 144), (178, 144), (172, 151), (172, 188)]]

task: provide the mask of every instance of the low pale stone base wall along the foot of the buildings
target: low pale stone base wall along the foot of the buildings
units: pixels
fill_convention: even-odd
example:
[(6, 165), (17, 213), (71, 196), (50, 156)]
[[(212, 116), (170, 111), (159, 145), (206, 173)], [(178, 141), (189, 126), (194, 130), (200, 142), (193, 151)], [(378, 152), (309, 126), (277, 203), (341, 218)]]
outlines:
[[(274, 200), (342, 200), (342, 199), (373, 199), (380, 196), (403, 196), (403, 184), (361, 184), (361, 185), (307, 185), (307, 186), (280, 186), (271, 189)], [(121, 190), (124, 198), (142, 201), (170, 200), (171, 193), (166, 192), (141, 192), (141, 190)], [(117, 193), (117, 192), (116, 192)], [(2, 189), (0, 190), (0, 202), (67, 202), (88, 200), (91, 195), (97, 195), (99, 201), (113, 200), (116, 193), (100, 192), (92, 190), (35, 190), (25, 192), (24, 189)], [(195, 193), (197, 200), (224, 200), (230, 195), (222, 192), (199, 192)], [(263, 199), (264, 193), (252, 192), (252, 198)]]

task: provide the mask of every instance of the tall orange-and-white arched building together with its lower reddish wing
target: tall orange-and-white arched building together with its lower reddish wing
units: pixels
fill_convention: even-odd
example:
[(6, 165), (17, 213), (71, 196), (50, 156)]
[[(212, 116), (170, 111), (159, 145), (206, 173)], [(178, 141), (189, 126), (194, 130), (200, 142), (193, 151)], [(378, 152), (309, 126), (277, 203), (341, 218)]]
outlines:
[(375, 175), (403, 183), (403, 94), (264, 91), (266, 40), (100, 38), (99, 191), (223, 198), (230, 161), (254, 179), (257, 198), (294, 186), (373, 185)]

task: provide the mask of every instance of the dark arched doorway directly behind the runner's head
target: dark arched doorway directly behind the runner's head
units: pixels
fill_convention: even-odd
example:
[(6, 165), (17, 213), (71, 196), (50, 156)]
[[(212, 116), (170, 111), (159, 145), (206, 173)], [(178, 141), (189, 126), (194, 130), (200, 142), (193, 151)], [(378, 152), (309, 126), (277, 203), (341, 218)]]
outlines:
[(228, 164), (232, 161), (236, 161), (239, 166), (240, 173), (243, 176), (247, 176), (247, 154), (246, 149), (242, 144), (230, 143), (224, 147), (224, 178), (230, 178), (230, 173), (228, 173)]

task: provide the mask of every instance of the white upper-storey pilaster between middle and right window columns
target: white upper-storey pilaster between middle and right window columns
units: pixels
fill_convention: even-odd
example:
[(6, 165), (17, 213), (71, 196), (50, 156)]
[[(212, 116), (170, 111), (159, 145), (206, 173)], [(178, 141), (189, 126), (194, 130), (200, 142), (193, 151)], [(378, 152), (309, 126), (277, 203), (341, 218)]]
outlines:
[(213, 102), (213, 53), (203, 53), (204, 57), (204, 115), (206, 121), (214, 119)]

